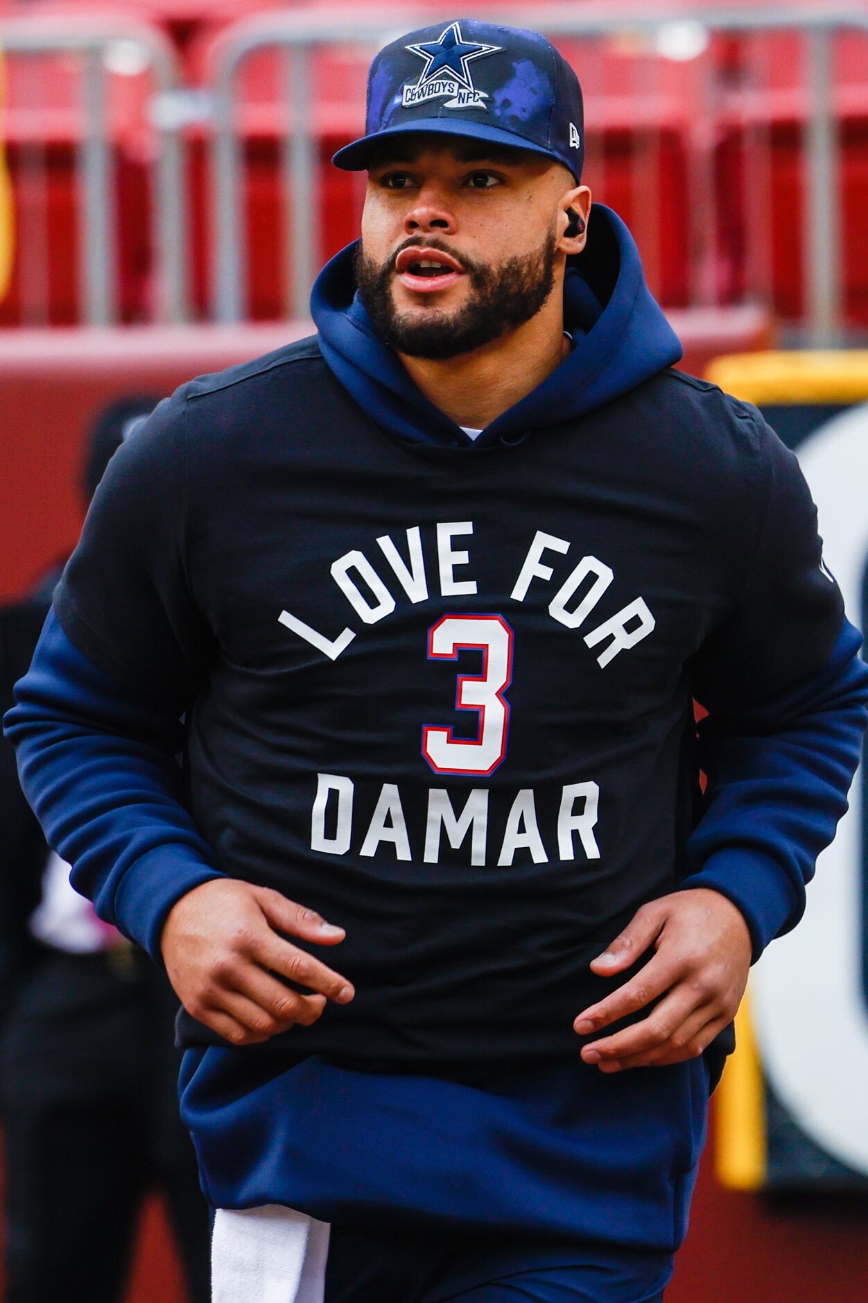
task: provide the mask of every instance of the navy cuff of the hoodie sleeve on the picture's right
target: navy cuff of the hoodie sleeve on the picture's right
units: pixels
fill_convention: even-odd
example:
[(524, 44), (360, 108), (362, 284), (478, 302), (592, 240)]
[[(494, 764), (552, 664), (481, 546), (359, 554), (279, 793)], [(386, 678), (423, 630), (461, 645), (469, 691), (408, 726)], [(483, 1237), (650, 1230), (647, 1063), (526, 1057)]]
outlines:
[(756, 850), (725, 847), (708, 857), (698, 873), (691, 873), (681, 891), (707, 887), (720, 891), (740, 909), (751, 934), (756, 963), (769, 941), (787, 932), (800, 913), (793, 885), (781, 865)]

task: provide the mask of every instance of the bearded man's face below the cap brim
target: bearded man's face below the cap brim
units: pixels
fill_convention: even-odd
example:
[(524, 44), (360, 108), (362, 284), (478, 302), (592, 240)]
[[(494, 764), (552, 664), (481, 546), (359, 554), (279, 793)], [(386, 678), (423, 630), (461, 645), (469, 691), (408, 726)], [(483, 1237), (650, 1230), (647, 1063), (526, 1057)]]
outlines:
[(400, 353), (449, 358), (530, 321), (552, 292), (558, 163), (484, 141), (409, 134), (371, 163), (357, 283)]

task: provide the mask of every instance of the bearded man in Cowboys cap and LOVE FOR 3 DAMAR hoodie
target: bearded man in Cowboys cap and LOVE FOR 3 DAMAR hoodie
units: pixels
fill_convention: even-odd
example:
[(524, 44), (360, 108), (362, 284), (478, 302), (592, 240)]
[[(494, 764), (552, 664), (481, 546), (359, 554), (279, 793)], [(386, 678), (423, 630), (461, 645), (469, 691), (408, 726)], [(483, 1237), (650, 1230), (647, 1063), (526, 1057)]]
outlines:
[(541, 36), (381, 51), (319, 334), (115, 457), (8, 717), (183, 1002), (217, 1303), (660, 1299), (846, 808), (868, 675), (804, 481), (671, 370), (582, 155)]

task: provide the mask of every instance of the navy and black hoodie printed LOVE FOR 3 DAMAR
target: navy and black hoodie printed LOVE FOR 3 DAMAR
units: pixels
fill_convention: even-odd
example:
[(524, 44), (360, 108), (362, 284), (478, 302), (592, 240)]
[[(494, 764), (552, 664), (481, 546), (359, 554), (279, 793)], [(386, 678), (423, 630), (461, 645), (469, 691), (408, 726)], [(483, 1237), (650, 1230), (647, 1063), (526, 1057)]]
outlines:
[(155, 959), (220, 874), (346, 928), (357, 998), (314, 1027), (239, 1050), (180, 1015), (219, 1207), (683, 1235), (727, 1042), (588, 1067), (573, 1018), (625, 980), (588, 963), (685, 886), (755, 955), (798, 921), (868, 674), (795, 457), (671, 370), (626, 228), (596, 206), (591, 233), (573, 352), (474, 444), (338, 254), (315, 339), (190, 382), (113, 457), (18, 685), (48, 839)]

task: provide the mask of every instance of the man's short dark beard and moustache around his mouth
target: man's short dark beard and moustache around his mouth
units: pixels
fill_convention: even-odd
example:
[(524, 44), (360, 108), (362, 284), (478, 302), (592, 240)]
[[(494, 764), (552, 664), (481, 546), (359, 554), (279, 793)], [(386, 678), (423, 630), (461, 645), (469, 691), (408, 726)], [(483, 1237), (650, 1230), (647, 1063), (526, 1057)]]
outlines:
[[(491, 344), (506, 331), (536, 317), (554, 285), (556, 235), (549, 231), (534, 253), (517, 254), (489, 266), (458, 257), (444, 240), (405, 241), (381, 266), (355, 250), (355, 283), (359, 298), (384, 344), (407, 357), (445, 361)], [(401, 313), (392, 296), (394, 261), (402, 249), (440, 249), (455, 258), (470, 280), (470, 293), (462, 308), (446, 313), (431, 308)]]

